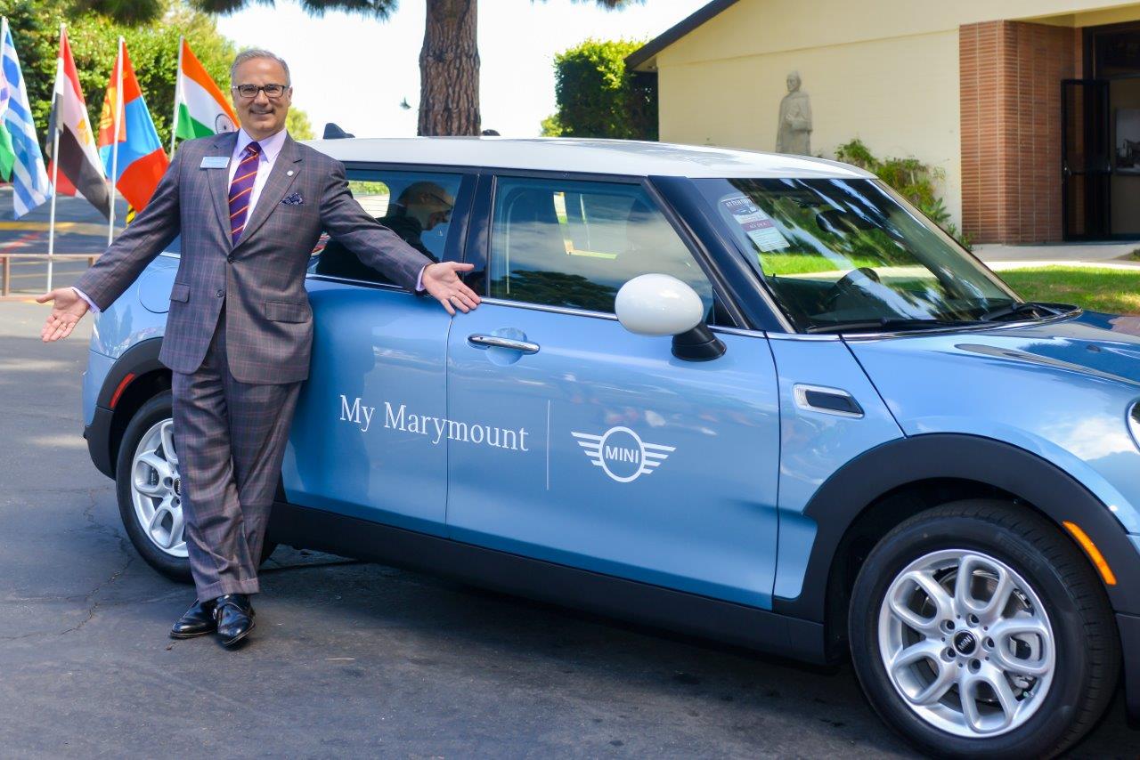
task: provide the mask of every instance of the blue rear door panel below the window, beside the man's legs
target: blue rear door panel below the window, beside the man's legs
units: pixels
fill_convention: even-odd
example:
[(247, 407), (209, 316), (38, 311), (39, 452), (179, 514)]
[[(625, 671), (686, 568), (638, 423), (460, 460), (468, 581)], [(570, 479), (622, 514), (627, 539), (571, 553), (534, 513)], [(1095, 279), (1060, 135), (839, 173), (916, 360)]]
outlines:
[(285, 450), (285, 493), (299, 505), (443, 533), (446, 441), (385, 422), (392, 403), (446, 417), (447, 312), (394, 287), (316, 278), (308, 286), (312, 368)]

